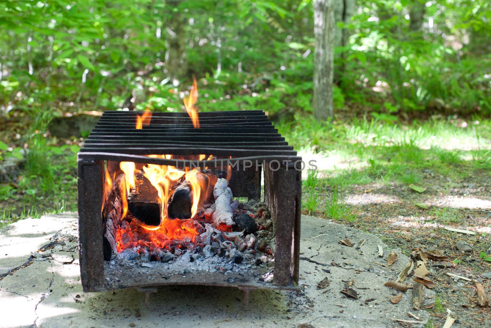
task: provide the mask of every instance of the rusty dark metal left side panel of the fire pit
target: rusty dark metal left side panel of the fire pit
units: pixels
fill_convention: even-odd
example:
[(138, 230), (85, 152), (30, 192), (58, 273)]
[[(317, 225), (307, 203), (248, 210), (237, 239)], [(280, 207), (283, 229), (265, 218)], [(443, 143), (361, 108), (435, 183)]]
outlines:
[(79, 258), (82, 288), (85, 292), (104, 290), (101, 208), (104, 161), (79, 158)]

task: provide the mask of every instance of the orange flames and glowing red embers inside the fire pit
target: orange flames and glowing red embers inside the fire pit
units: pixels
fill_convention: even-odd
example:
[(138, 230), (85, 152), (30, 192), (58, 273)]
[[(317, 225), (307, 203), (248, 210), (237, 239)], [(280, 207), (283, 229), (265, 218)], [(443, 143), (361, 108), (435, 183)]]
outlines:
[[(153, 158), (171, 159), (172, 155), (148, 155)], [(212, 158), (211, 155), (195, 155), (195, 159), (204, 160)], [(125, 249), (137, 248), (139, 254), (154, 252), (163, 249), (186, 248), (190, 243), (199, 242), (199, 235), (204, 232), (202, 224), (193, 218), (203, 217), (202, 211), (209, 206), (208, 200), (212, 197), (213, 188), (217, 181), (216, 173), (206, 173), (197, 169), (179, 170), (170, 165), (157, 164), (140, 164), (134, 162), (120, 162), (119, 166), (115, 163), (108, 162), (105, 182), (105, 201), (107, 201), (114, 183), (114, 177), (124, 174), (125, 187), (121, 188), (121, 200), (123, 205), (122, 223), (116, 228), (115, 240), (118, 252)], [(111, 169), (110, 169), (111, 168)], [(228, 168), (227, 171), (231, 169)], [(227, 178), (230, 178), (230, 172), (223, 172)], [(128, 195), (135, 193), (136, 179), (143, 176), (148, 179), (151, 185), (157, 190), (158, 198), (162, 204), (162, 224), (151, 226), (139, 221), (133, 214), (128, 211)], [(147, 182), (148, 182), (147, 181)], [(186, 219), (170, 219), (168, 217), (168, 204), (172, 199), (176, 186), (185, 183), (191, 188), (191, 216)], [(126, 218), (125, 218), (126, 217)], [(123, 220), (124, 218), (124, 220)], [(206, 222), (206, 218), (202, 218)], [(130, 223), (128, 223), (130, 222)], [(208, 221), (208, 223), (212, 223)], [(231, 231), (231, 227), (218, 227), (221, 231)], [(139, 246), (139, 247), (138, 247)], [(182, 246), (182, 247), (181, 247)], [(169, 248), (170, 247), (170, 248)]]

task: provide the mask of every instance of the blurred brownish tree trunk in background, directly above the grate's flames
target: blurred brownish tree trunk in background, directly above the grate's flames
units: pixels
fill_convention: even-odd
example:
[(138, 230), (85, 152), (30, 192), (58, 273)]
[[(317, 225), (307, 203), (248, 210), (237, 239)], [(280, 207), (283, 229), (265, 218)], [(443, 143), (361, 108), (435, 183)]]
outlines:
[(178, 1), (167, 1), (167, 6), (172, 10), (172, 15), (165, 28), (168, 43), (165, 69), (172, 80), (180, 81), (186, 76), (188, 64), (185, 57), (186, 36), (184, 27), (186, 25), (186, 17), (184, 17), (178, 5)]

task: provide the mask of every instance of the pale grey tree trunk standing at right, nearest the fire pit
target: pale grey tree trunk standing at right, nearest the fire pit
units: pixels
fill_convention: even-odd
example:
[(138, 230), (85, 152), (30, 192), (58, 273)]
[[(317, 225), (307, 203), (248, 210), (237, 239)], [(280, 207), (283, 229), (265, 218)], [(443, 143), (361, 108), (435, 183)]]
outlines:
[(314, 117), (325, 121), (333, 115), (334, 65), (333, 0), (314, 0)]

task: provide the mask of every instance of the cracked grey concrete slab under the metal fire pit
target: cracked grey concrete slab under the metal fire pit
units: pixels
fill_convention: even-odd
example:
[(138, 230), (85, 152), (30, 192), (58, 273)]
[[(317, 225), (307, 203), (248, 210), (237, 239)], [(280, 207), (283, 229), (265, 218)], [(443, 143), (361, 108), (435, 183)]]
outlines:
[[(46, 234), (37, 232), (32, 220), (16, 223), (30, 251), (24, 251), (25, 263), (35, 252), (39, 240), (51, 236), (63, 241), (50, 251), (33, 253), (30, 265), (19, 268), (0, 280), (1, 327), (398, 327), (393, 320), (409, 318), (410, 311), (427, 322), (428, 313), (410, 307), (408, 291), (398, 304), (391, 304), (392, 290), (383, 286), (397, 277), (409, 258), (394, 249), (397, 261), (389, 268), (387, 255), (391, 249), (374, 235), (347, 228), (328, 220), (302, 216), (300, 284), (302, 292), (257, 290), (250, 294), (245, 306), (240, 292), (231, 288), (172, 286), (161, 287), (150, 296), (148, 308), (144, 295), (135, 290), (83, 293), (76, 251), (76, 214), (64, 219), (46, 216), (51, 228)], [(29, 229), (33, 231), (29, 233)], [(6, 230), (6, 231), (5, 231)], [(0, 245), (12, 240), (11, 227), (0, 230)], [(31, 235), (31, 236), (29, 236)], [(322, 236), (319, 236), (322, 235)], [(356, 249), (339, 243), (349, 237), (353, 243), (366, 239)], [(46, 242), (45, 242), (46, 243)], [(378, 257), (378, 245), (384, 257)], [(37, 247), (37, 248), (36, 248)], [(71, 261), (70, 256), (74, 261)], [(8, 259), (0, 259), (0, 267), (11, 269)], [(19, 262), (15, 262), (17, 264)], [(2, 271), (0, 271), (0, 274)], [(327, 277), (330, 284), (318, 289)], [(358, 299), (340, 291), (346, 282), (355, 280), (353, 289)], [(410, 282), (410, 280), (408, 281)], [(425, 302), (434, 301), (434, 293), (425, 290)], [(6, 311), (5, 311), (6, 310)], [(415, 327), (415, 326), (413, 326)]]

